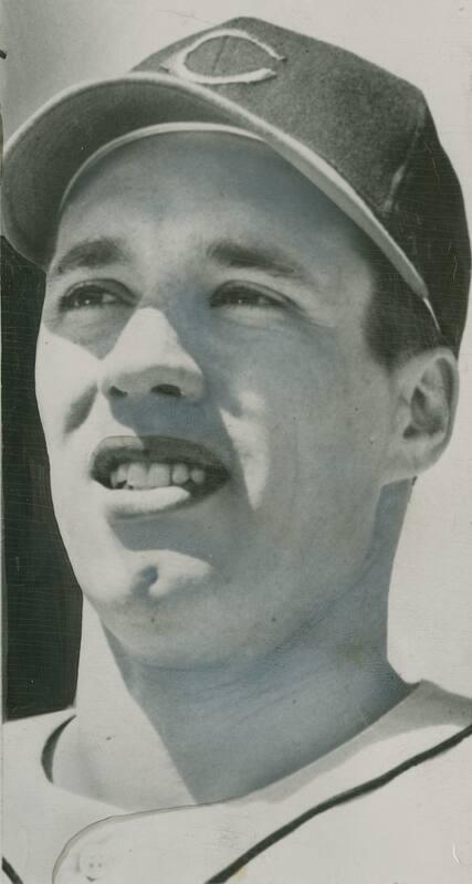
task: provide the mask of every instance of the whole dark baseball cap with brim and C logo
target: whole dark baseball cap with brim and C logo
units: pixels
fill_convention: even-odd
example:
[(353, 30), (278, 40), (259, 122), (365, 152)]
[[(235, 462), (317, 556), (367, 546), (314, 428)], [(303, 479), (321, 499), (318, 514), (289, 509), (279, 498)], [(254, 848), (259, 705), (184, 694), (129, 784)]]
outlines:
[(132, 133), (180, 124), (239, 129), (276, 150), (370, 238), (459, 348), (470, 243), (461, 187), (422, 93), (259, 19), (192, 34), (124, 76), (80, 84), (40, 108), (6, 149), (11, 244), (44, 266), (81, 167)]

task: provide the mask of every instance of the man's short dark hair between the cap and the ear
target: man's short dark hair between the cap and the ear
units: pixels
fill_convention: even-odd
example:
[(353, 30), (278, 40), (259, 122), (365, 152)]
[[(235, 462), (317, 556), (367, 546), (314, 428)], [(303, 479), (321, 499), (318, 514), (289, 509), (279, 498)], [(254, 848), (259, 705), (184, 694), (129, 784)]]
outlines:
[(390, 262), (376, 246), (369, 246), (369, 253), (375, 288), (365, 316), (365, 334), (375, 359), (391, 370), (422, 350), (450, 346), (426, 304)]

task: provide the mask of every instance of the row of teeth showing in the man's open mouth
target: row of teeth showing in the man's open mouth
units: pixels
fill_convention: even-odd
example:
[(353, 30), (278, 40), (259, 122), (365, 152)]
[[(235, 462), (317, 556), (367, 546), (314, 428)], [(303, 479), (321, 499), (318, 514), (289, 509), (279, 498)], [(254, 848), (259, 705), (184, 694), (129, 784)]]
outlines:
[(202, 466), (190, 467), (186, 463), (122, 463), (109, 475), (112, 488), (166, 488), (170, 485), (185, 485), (189, 480), (195, 485), (203, 485), (207, 478)]

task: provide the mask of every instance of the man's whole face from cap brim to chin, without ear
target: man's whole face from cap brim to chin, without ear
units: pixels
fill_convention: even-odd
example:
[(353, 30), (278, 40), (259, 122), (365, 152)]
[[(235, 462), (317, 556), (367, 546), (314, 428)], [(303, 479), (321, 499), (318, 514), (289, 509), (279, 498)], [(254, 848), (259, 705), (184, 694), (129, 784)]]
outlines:
[(263, 655), (358, 579), (392, 393), (352, 222), (262, 144), (122, 147), (63, 212), (38, 345), (85, 596), (166, 665)]

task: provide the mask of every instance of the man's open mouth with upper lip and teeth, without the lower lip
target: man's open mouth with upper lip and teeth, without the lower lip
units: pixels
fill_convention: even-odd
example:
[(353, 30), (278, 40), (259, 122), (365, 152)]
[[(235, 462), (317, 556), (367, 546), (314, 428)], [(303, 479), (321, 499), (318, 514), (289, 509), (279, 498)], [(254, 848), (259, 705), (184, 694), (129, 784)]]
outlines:
[(92, 477), (111, 491), (182, 488), (202, 498), (229, 478), (227, 467), (203, 445), (172, 436), (113, 436), (92, 455)]

